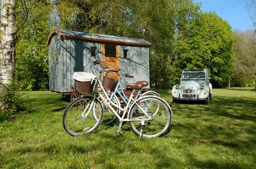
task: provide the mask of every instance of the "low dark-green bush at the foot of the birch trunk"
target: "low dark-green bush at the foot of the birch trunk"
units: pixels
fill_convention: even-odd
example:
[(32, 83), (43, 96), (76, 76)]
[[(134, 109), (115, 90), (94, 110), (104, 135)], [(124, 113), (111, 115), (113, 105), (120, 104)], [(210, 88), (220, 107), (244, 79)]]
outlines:
[(10, 84), (0, 83), (0, 93), (1, 113), (13, 116), (16, 113), (25, 111), (18, 83), (15, 81)]

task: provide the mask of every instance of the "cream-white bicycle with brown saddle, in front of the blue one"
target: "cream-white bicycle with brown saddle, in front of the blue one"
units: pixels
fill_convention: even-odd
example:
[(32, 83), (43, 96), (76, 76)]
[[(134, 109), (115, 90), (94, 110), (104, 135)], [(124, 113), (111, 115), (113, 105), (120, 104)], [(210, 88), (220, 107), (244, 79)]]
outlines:
[[(95, 61), (92, 66), (99, 62)], [(101, 73), (106, 69), (98, 70)], [(98, 92), (100, 86), (103, 94)], [(170, 131), (172, 110), (170, 105), (157, 96), (142, 96), (135, 100), (134, 93), (144, 86), (143, 82), (126, 84), (133, 88), (125, 107), (121, 107), (117, 100), (109, 98), (99, 78), (96, 78), (93, 94), (84, 95), (73, 100), (64, 111), (63, 127), (71, 134), (77, 136), (92, 133), (101, 123), (104, 108), (107, 105), (119, 120), (117, 135), (121, 134), (124, 121), (129, 121), (131, 129), (140, 137), (160, 137)], [(101, 101), (98, 99), (100, 96)], [(122, 114), (118, 113), (122, 111)], [(96, 116), (96, 117), (95, 117)]]

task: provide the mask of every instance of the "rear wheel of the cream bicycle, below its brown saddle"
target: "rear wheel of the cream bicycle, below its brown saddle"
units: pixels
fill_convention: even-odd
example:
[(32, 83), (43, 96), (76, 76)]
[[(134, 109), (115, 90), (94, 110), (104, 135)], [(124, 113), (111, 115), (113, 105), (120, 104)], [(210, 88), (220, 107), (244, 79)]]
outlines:
[(144, 96), (137, 100), (137, 104), (134, 103), (129, 111), (130, 125), (134, 133), (151, 138), (163, 136), (170, 131), (172, 111), (163, 99)]

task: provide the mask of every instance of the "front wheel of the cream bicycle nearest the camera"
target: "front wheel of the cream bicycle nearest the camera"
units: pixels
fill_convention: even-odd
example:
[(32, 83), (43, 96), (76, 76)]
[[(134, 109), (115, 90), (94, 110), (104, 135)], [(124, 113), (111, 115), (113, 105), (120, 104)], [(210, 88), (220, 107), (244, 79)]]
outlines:
[[(63, 127), (71, 136), (89, 134), (100, 124), (102, 114), (103, 108), (98, 99), (92, 102), (91, 97), (80, 97), (65, 109)], [(97, 119), (94, 116), (97, 116)]]

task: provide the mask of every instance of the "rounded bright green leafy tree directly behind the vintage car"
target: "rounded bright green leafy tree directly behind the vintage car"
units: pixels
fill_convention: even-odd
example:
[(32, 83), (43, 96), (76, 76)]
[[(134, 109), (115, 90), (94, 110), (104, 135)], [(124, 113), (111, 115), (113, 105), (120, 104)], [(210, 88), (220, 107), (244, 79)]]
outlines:
[(227, 86), (233, 77), (234, 38), (230, 25), (215, 12), (191, 20), (186, 39), (178, 40), (176, 64), (185, 68), (206, 68), (214, 87)]

